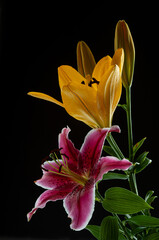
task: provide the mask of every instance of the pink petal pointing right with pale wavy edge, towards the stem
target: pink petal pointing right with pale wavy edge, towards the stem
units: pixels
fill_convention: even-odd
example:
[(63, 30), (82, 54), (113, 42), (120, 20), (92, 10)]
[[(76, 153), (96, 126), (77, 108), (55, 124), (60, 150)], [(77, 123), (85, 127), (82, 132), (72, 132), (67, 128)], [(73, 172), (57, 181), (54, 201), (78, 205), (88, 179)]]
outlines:
[(116, 157), (102, 157), (100, 162), (97, 164), (97, 169), (94, 172), (96, 182), (102, 180), (103, 174), (113, 170), (127, 170), (132, 163), (127, 159), (119, 160)]

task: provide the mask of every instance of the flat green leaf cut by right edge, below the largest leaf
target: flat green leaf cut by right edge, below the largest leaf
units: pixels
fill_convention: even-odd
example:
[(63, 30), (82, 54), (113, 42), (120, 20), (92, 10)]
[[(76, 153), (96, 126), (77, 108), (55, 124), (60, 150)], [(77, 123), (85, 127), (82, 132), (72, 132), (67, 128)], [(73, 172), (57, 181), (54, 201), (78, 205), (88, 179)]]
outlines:
[(126, 222), (132, 222), (140, 227), (159, 227), (159, 218), (145, 215), (129, 218)]

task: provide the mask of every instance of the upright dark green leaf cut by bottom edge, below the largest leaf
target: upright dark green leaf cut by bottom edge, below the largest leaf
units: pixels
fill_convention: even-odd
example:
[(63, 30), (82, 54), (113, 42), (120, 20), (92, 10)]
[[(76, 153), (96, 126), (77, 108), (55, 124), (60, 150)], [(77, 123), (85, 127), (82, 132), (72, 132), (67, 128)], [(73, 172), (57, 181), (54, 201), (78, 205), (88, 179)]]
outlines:
[(119, 228), (116, 217), (108, 216), (102, 220), (99, 240), (118, 240)]

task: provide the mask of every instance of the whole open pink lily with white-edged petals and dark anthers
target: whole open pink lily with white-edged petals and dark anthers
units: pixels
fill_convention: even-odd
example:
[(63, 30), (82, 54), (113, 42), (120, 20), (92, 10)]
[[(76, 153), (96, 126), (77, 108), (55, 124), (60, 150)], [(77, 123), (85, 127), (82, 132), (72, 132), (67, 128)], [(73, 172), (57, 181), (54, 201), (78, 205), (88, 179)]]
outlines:
[[(46, 189), (37, 199), (34, 208), (28, 213), (28, 220), (39, 208), (49, 201), (63, 200), (63, 206), (72, 219), (71, 228), (84, 229), (91, 219), (95, 203), (95, 184), (103, 174), (115, 169), (126, 170), (131, 163), (116, 157), (101, 157), (102, 147), (109, 132), (119, 132), (118, 126), (92, 129), (80, 150), (76, 149), (68, 134), (70, 129), (63, 128), (59, 134), (61, 159), (45, 161), (42, 164), (43, 176), (36, 185)], [(52, 158), (53, 159), (53, 158)]]

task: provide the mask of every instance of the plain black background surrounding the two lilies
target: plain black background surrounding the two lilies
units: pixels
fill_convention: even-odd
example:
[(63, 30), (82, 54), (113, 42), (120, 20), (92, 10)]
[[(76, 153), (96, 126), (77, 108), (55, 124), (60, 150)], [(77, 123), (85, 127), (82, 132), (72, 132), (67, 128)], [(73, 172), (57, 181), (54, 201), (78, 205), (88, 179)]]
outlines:
[[(4, 153), (1, 158), (1, 236), (37, 238), (90, 238), (84, 230), (69, 228), (70, 220), (62, 201), (49, 203), (39, 210), (31, 222), (26, 214), (42, 189), (34, 185), (41, 177), (41, 160), (58, 146), (61, 129), (72, 129), (70, 138), (80, 148), (90, 130), (52, 103), (27, 96), (28, 91), (41, 91), (60, 98), (57, 67), (63, 64), (76, 68), (76, 45), (84, 40), (96, 61), (113, 55), (114, 30), (118, 20), (128, 23), (136, 47), (136, 65), (132, 87), (134, 143), (147, 137), (142, 150), (150, 151), (153, 160), (137, 176), (139, 193), (144, 197), (150, 189), (158, 195), (158, 13), (151, 2), (46, 2), (12, 1), (1, 6), (1, 132)], [(124, 92), (121, 103), (124, 103)], [(126, 120), (117, 109), (113, 124), (121, 127), (114, 134), (127, 155)], [(2, 145), (3, 146), (3, 145)], [(101, 184), (104, 191), (126, 183), (111, 181)], [(154, 216), (158, 214), (155, 201)], [(103, 213), (96, 204), (92, 224), (100, 224)]]

